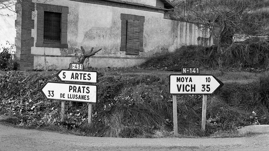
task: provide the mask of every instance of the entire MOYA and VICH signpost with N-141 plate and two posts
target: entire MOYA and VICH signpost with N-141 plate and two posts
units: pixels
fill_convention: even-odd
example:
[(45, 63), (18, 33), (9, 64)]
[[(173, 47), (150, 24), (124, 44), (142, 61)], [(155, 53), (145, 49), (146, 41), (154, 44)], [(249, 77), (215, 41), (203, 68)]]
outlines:
[(223, 86), (215, 76), (200, 74), (198, 67), (182, 67), (182, 74), (169, 75), (169, 93), (173, 95), (174, 135), (178, 135), (176, 95), (203, 95), (202, 126), (205, 131), (207, 95)]

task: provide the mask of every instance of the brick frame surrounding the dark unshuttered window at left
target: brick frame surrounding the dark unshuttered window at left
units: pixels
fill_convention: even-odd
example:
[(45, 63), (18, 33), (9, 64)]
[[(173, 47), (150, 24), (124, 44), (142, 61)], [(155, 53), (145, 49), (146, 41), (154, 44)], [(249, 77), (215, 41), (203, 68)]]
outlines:
[[(66, 6), (36, 4), (37, 10), (37, 38), (36, 47), (68, 48), (67, 44), (67, 17), (69, 9)], [(44, 43), (44, 11), (61, 13), (61, 40), (60, 43)]]

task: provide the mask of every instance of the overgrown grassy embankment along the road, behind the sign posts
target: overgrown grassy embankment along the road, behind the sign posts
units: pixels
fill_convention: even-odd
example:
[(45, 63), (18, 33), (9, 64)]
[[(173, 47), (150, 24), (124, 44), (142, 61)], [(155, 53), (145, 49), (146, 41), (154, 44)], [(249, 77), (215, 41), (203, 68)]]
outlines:
[[(189, 48), (193, 46), (187, 47)], [(175, 53), (166, 56), (180, 57)], [(189, 59), (192, 62), (185, 61), (186, 64), (183, 65), (210, 66), (208, 60), (204, 60), (208, 61), (207, 64), (199, 61), (197, 63), (200, 65), (193, 64), (196, 63), (195, 57), (190, 54)], [(165, 60), (166, 57), (161, 58)], [(152, 60), (156, 61), (156, 58)], [(159, 60), (158, 63), (161, 67), (166, 61)], [(175, 62), (168, 64), (167, 68), (162, 68), (169, 70), (168, 67), (171, 66), (182, 66), (173, 63)], [(71, 102), (67, 102), (67, 116), (64, 122), (61, 122), (61, 102), (47, 100), (39, 92), (39, 88), (46, 81), (58, 81), (55, 77), (56, 71), (2, 73), (0, 114), (9, 115), (10, 118), (5, 121), (14, 125), (67, 131), (85, 136), (147, 138), (172, 134), (172, 95), (168, 93), (168, 76), (176, 72), (137, 68), (103, 69), (98, 72), (98, 103), (93, 106), (91, 125), (87, 124), (86, 103), (72, 105)], [(201, 96), (178, 95), (180, 136), (238, 136), (234, 131), (237, 127), (269, 124), (268, 72), (240, 71), (218, 75), (217, 71), (211, 68), (201, 70), (201, 73), (216, 75), (223, 81), (224, 86), (208, 96), (205, 132), (200, 130)]]

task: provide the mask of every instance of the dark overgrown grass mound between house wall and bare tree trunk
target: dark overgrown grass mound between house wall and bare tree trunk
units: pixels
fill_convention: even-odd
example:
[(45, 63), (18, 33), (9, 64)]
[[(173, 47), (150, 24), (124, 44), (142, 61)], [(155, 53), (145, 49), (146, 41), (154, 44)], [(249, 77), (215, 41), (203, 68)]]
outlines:
[(140, 65), (142, 68), (180, 71), (183, 66), (216, 67), (218, 60), (215, 47), (182, 46), (175, 52), (154, 56)]

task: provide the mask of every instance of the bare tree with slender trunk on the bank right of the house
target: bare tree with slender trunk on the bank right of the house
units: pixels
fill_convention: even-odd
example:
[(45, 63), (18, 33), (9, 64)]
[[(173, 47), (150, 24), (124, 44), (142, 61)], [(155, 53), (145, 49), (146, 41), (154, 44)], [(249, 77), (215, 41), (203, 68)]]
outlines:
[[(263, 29), (251, 11), (256, 8), (252, 0), (189, 0), (184, 11), (185, 20), (194, 22), (200, 28), (209, 28), (217, 39), (219, 72), (223, 72), (223, 54), (233, 37), (249, 36)], [(182, 6), (183, 7), (183, 6)], [(185, 15), (186, 14), (186, 15)]]

